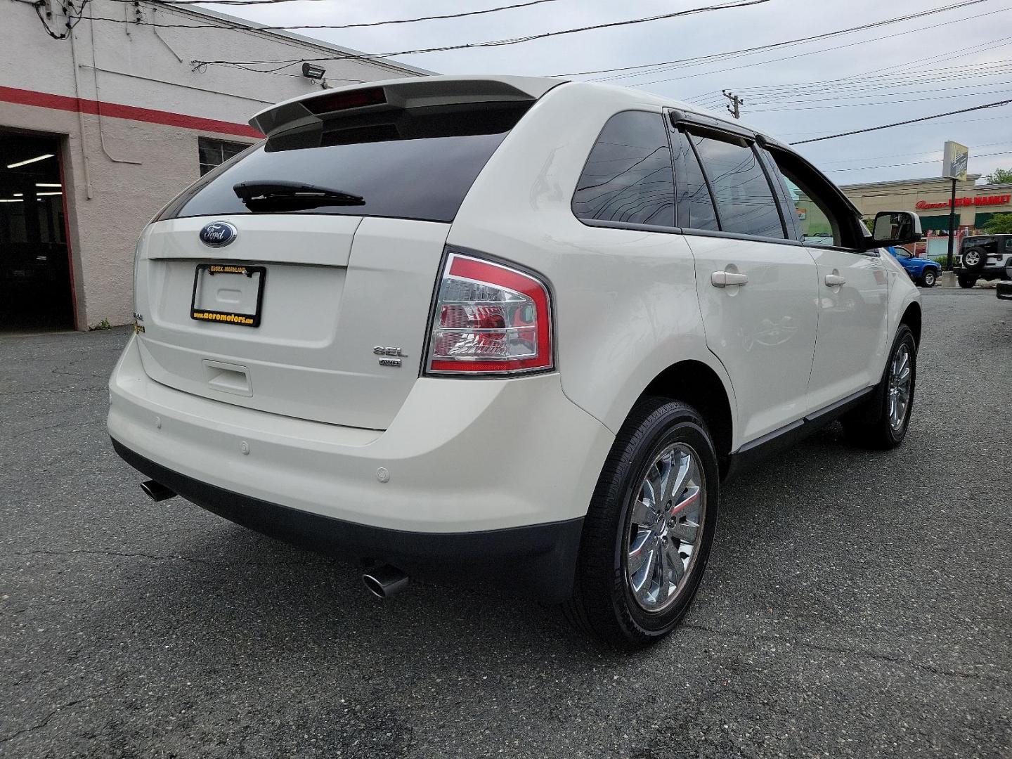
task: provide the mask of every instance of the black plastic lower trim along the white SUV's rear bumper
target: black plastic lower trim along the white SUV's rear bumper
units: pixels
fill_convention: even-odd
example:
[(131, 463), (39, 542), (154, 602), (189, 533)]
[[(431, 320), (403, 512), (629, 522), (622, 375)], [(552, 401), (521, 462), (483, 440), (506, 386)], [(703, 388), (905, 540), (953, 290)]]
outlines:
[(480, 532), (410, 532), (373, 527), (244, 496), (181, 475), (113, 439), (134, 469), (187, 501), (237, 524), (330, 556), (386, 562), (454, 584), (488, 583), (547, 603), (573, 592), (583, 519)]

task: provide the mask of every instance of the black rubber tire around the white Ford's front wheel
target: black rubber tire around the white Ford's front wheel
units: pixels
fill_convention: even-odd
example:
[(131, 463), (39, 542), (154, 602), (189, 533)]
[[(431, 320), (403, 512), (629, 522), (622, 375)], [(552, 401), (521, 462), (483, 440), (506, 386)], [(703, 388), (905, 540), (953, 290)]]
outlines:
[[(890, 374), (894, 368), (894, 359), (900, 355), (904, 347), (910, 356), (910, 390), (907, 408), (903, 412), (902, 424), (897, 427), (894, 426), (890, 418), (892, 408)], [(843, 431), (847, 440), (853, 445), (872, 450), (890, 450), (900, 445), (907, 436), (907, 428), (910, 426), (910, 414), (914, 409), (916, 388), (917, 341), (914, 340), (914, 333), (910, 327), (901, 324), (900, 329), (897, 330), (896, 339), (893, 341), (889, 360), (886, 361), (886, 369), (882, 371), (881, 380), (875, 386), (871, 398), (867, 403), (846, 414), (840, 420), (843, 422)]]

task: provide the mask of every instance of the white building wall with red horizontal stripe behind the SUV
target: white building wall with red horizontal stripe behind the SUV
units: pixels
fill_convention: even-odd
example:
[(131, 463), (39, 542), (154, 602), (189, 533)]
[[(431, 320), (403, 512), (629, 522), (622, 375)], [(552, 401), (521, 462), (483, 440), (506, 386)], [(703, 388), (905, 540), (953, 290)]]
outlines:
[[(149, 22), (215, 28), (132, 23), (138, 14)], [(62, 138), (79, 328), (130, 321), (135, 241), (158, 209), (199, 176), (198, 137), (254, 142), (246, 124), (254, 112), (322, 86), (302, 77), (299, 65), (276, 73), (224, 66), (194, 71), (191, 61), (342, 57), (320, 64), (330, 86), (427, 73), (237, 23), (185, 7), (93, 0), (71, 38), (58, 40), (29, 3), (7, 0), (0, 7), (0, 130)], [(62, 12), (50, 20), (58, 32), (65, 24)], [(143, 110), (116, 107), (123, 105)]]

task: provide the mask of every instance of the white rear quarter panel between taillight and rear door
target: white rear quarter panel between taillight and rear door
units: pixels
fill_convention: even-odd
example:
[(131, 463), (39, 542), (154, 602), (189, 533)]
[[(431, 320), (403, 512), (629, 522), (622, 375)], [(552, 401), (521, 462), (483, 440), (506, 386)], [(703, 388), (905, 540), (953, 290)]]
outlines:
[(686, 359), (718, 373), (736, 419), (730, 380), (706, 348), (684, 238), (588, 227), (570, 208), (605, 121), (622, 110), (661, 117), (659, 104), (637, 98), (579, 84), (547, 93), (486, 165), (447, 244), (515, 261), (547, 278), (564, 392), (612, 432), (651, 381)]

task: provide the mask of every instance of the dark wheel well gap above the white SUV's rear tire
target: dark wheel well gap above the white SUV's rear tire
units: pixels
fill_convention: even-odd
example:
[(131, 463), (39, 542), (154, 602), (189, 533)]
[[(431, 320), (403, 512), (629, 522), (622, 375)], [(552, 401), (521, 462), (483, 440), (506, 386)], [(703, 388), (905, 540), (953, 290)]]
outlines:
[(731, 455), (733, 422), (731, 402), (718, 373), (701, 361), (679, 361), (654, 377), (641, 398), (645, 396), (682, 401), (699, 412), (713, 438), (723, 476)]

